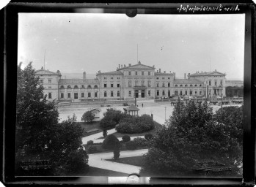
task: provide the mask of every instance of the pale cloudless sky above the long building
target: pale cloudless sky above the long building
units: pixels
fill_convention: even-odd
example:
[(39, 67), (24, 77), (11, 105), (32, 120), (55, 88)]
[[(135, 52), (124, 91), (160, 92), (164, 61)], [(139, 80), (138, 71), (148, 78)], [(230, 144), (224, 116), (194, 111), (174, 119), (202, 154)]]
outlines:
[(217, 70), (244, 78), (244, 14), (19, 13), (18, 64), (96, 74), (118, 64), (184, 73)]

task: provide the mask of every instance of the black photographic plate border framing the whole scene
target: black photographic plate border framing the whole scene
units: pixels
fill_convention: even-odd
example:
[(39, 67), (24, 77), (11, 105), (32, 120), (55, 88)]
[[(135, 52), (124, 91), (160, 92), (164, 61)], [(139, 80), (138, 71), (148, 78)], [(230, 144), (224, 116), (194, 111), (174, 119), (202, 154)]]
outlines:
[[(180, 4), (193, 7), (238, 5), (238, 12), (178, 12)], [(256, 67), (255, 67), (255, 4), (252, 2), (220, 2), (220, 3), (65, 3), (48, 1), (47, 3), (12, 1), (1, 9), (2, 42), (4, 51), (4, 103), (3, 103), (3, 149), (2, 178), (5, 185), (21, 184), (106, 184), (107, 177), (15, 177), (15, 108), (17, 88), (17, 56), (18, 56), (18, 12), (73, 12), (73, 8), (100, 8), (105, 13), (125, 13), (126, 9), (145, 9), (145, 14), (241, 14), (245, 13), (245, 45), (244, 45), (244, 144), (243, 144), (243, 179), (242, 178), (151, 178), (153, 184), (179, 185), (249, 185), (255, 183), (255, 124), (256, 124)], [(4, 24), (3, 24), (4, 23)], [(230, 67), (232, 68), (232, 67)]]

